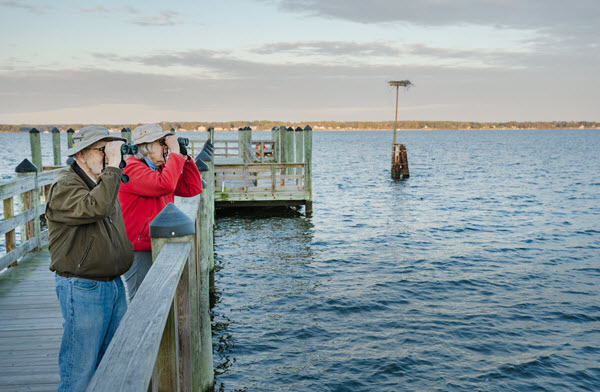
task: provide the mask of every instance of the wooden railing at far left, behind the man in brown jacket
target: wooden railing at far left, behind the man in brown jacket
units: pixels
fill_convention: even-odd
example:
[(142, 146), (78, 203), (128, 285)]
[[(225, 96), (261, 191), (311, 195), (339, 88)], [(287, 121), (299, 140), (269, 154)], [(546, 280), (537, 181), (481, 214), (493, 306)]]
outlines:
[[(47, 243), (48, 230), (42, 230), (40, 216), (44, 215), (46, 209), (45, 190), (60, 170), (19, 173), (20, 178), (0, 185), (4, 212), (0, 221), (0, 235), (4, 234), (6, 247), (6, 254), (0, 257), (0, 270), (15, 265), (28, 252), (40, 249)], [(16, 209), (18, 214), (15, 214)], [(17, 229), (20, 234), (18, 246)]]

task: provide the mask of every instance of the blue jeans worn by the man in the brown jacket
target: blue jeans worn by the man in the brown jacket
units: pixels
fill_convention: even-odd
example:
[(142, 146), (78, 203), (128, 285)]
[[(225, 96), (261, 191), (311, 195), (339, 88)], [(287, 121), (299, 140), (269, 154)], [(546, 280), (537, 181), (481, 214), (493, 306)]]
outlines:
[(85, 391), (127, 310), (121, 278), (112, 282), (56, 276), (63, 314), (58, 391)]

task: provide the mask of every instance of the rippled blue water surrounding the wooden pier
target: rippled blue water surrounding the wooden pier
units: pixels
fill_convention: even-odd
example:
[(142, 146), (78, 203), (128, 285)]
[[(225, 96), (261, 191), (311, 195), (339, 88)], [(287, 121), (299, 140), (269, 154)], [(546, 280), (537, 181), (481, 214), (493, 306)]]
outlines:
[(600, 131), (313, 138), (311, 218), (217, 220), (217, 391), (600, 390)]

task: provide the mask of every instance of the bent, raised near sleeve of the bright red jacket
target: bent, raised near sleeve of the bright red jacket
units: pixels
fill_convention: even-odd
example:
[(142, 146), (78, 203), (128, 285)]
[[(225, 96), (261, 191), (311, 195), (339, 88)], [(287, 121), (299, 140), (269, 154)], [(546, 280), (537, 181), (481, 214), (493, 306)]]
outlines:
[(185, 158), (179, 154), (170, 154), (160, 171), (153, 171), (134, 157), (126, 162), (123, 173), (129, 176), (129, 182), (122, 184), (121, 190), (141, 196), (160, 197), (173, 193), (177, 188)]

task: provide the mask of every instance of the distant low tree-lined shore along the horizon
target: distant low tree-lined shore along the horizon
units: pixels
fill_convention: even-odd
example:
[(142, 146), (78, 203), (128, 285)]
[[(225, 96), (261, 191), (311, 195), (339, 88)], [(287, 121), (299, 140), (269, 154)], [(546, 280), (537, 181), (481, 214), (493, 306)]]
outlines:
[[(215, 130), (235, 131), (239, 128), (249, 126), (253, 130), (270, 130), (275, 126), (284, 125), (286, 127), (302, 127), (310, 125), (314, 130), (339, 129), (339, 130), (391, 130), (394, 129), (393, 121), (307, 121), (290, 122), (281, 121), (226, 121), (226, 122), (204, 122), (204, 121), (164, 121), (159, 123), (165, 130), (171, 128), (175, 131), (196, 131), (208, 127), (215, 127)], [(69, 128), (79, 130), (89, 124), (28, 124), (12, 125), (0, 124), (0, 132), (26, 132), (31, 128), (36, 128), (41, 132), (50, 132), (53, 128), (58, 128), (61, 132), (66, 132)], [(108, 129), (122, 129), (142, 125), (138, 124), (95, 124)], [(507, 121), (507, 122), (465, 122), (465, 121), (398, 121), (398, 129), (437, 129), (437, 130), (457, 130), (457, 129), (571, 129), (571, 128), (600, 128), (600, 123), (595, 121)]]

